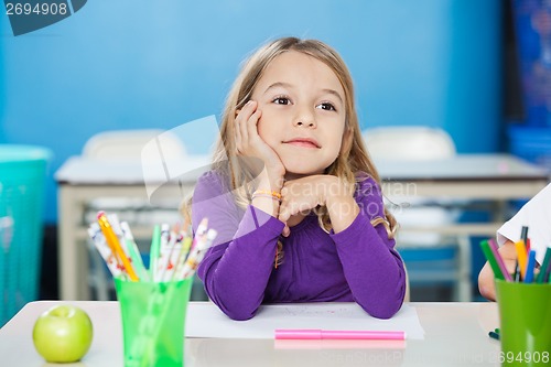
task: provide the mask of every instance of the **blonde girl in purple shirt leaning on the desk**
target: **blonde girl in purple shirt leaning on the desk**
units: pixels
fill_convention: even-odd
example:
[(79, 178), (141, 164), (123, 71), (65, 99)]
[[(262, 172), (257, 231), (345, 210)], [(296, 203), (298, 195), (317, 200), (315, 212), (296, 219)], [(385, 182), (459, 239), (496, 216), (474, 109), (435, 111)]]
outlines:
[(391, 317), (406, 291), (379, 176), (364, 148), (338, 54), (285, 37), (257, 51), (229, 93), (213, 170), (195, 187), (218, 230), (198, 268), (234, 320), (262, 303), (356, 301)]

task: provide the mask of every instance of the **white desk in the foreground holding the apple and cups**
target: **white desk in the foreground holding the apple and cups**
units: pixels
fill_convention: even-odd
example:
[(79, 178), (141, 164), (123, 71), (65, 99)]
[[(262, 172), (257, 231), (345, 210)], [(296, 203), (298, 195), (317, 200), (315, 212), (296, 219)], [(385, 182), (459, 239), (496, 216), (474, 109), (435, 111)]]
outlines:
[[(34, 321), (57, 301), (25, 305), (0, 330), (2, 366), (43, 367), (32, 343)], [(72, 302), (94, 324), (94, 341), (79, 367), (120, 367), (122, 334), (117, 302)], [(248, 366), (499, 366), (499, 342), (488, 337), (498, 327), (495, 303), (410, 303), (425, 335), (422, 341), (281, 345), (273, 339), (186, 338), (185, 367)], [(193, 316), (193, 313), (188, 313)], [(325, 341), (328, 342), (328, 341)]]

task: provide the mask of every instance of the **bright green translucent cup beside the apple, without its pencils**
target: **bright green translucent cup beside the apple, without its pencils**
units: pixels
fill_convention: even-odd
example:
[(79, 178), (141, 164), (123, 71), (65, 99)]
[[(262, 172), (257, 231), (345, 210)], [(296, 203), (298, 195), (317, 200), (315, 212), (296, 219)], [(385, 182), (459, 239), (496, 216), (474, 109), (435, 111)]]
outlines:
[(185, 314), (193, 279), (133, 282), (115, 279), (125, 367), (182, 367)]

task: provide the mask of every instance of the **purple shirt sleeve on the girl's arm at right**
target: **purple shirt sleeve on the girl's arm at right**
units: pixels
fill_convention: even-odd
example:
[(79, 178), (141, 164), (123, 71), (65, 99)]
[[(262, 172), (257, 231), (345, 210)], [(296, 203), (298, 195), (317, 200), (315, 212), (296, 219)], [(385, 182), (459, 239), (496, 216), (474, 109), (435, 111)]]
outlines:
[(396, 241), (388, 238), (379, 185), (372, 179), (359, 183), (356, 202), (360, 213), (345, 230), (333, 234), (346, 281), (355, 301), (371, 316), (389, 319), (401, 307), (406, 294), (406, 271)]

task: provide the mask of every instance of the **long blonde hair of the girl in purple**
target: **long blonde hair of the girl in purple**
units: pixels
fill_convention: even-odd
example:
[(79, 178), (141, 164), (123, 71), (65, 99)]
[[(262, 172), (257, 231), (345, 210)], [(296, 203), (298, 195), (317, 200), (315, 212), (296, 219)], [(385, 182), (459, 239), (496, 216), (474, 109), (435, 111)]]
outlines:
[[(367, 153), (361, 138), (355, 108), (354, 85), (346, 64), (335, 50), (321, 41), (283, 37), (263, 45), (246, 61), (226, 99), (222, 116), (220, 139), (215, 148), (213, 169), (229, 179), (229, 190), (234, 193), (237, 205), (246, 207), (250, 204), (251, 181), (256, 175), (237, 155), (234, 131), (236, 115), (251, 99), (255, 87), (268, 65), (276, 57), (289, 51), (300, 52), (323, 62), (335, 73), (344, 89), (346, 120), (343, 143), (337, 159), (325, 170), (325, 173), (338, 176), (349, 183), (350, 194), (357, 180), (360, 180), (356, 176), (358, 172), (367, 173), (380, 187), (379, 174)], [(327, 209), (322, 207), (316, 209), (315, 213), (321, 227), (328, 231), (331, 222)], [(374, 226), (382, 224), (389, 238), (393, 237), (396, 219), (386, 208), (385, 218), (374, 218), (371, 223)], [(281, 242), (278, 246), (281, 250)]]

